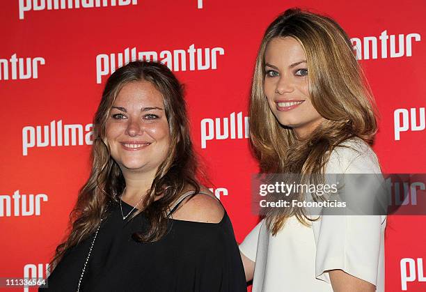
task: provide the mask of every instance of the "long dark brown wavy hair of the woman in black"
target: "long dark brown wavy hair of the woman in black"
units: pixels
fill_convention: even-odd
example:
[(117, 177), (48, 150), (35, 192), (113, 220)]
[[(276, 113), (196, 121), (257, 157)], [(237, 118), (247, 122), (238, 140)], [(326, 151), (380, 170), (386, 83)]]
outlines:
[(182, 85), (173, 72), (161, 63), (128, 63), (113, 72), (102, 93), (102, 100), (93, 121), (92, 170), (70, 213), (69, 236), (56, 247), (51, 270), (61, 261), (68, 249), (78, 245), (97, 229), (101, 219), (107, 217), (109, 206), (120, 200), (119, 196), (125, 189), (125, 179), (120, 167), (111, 157), (105, 138), (105, 125), (111, 107), (123, 86), (129, 82), (143, 80), (151, 82), (163, 96), (171, 144), (166, 160), (157, 169), (152, 186), (143, 199), (142, 208), (132, 215), (133, 218), (144, 212), (150, 226), (146, 233), (134, 233), (132, 238), (138, 242), (159, 240), (167, 232), (166, 213), (169, 206), (188, 187), (196, 192), (200, 190), (196, 179), (197, 163), (189, 134)]

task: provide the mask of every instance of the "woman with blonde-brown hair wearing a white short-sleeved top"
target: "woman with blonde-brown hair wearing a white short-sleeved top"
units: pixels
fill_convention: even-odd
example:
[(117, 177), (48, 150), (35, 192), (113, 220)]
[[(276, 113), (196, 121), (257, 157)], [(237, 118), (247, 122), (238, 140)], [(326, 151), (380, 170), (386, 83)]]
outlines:
[[(250, 100), (265, 174), (380, 174), (372, 95), (347, 34), (330, 17), (289, 9), (258, 52)], [(294, 192), (288, 201), (308, 200)], [(386, 216), (269, 210), (240, 251), (253, 292), (384, 291)]]

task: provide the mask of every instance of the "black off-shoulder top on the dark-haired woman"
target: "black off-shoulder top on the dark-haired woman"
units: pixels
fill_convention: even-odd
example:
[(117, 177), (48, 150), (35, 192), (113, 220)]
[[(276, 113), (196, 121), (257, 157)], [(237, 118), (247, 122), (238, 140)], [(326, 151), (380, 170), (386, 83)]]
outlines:
[[(132, 206), (122, 204), (127, 215)], [(137, 243), (132, 233), (146, 226), (143, 213), (124, 221), (120, 205), (111, 206), (80, 291), (246, 292), (242, 260), (226, 213), (217, 224), (169, 219), (169, 231), (161, 240)], [(77, 291), (93, 236), (68, 250), (48, 277), (48, 288), (39, 291)]]

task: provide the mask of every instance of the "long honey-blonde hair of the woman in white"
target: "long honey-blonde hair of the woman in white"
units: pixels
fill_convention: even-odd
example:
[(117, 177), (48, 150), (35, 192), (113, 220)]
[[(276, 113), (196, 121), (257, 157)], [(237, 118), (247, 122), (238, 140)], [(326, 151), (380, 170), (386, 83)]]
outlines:
[[(298, 40), (306, 54), (309, 97), (325, 118), (308, 137), (297, 139), (292, 128), (278, 123), (265, 97), (265, 50), (274, 38)], [(285, 52), (283, 52), (285, 54)], [(267, 28), (255, 63), (250, 100), (250, 138), (263, 173), (322, 174), (336, 146), (359, 137), (372, 144), (377, 109), (370, 86), (342, 27), (330, 17), (292, 8)], [(291, 199), (303, 199), (292, 194)], [(308, 224), (303, 208), (274, 208), (267, 226), (276, 235), (288, 217)]]

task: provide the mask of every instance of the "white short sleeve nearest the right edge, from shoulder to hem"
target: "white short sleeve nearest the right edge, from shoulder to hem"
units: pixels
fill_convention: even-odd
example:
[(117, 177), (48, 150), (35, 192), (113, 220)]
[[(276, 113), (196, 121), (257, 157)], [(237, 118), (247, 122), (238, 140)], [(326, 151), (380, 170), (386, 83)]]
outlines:
[[(339, 149), (332, 154), (329, 170), (340, 174), (380, 174), (377, 157), (369, 146), (364, 147), (367, 148), (361, 151)], [(377, 286), (384, 254), (384, 226), (386, 216), (381, 215), (323, 215), (313, 222), (317, 279), (330, 283), (327, 271), (343, 270)]]

